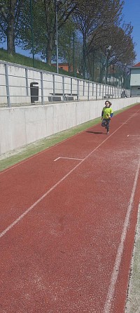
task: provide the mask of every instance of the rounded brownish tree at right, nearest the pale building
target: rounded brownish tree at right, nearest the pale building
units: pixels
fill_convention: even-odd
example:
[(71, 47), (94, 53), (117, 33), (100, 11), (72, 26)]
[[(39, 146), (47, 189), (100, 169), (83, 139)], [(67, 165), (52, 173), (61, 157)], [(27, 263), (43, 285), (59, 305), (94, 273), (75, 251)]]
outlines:
[[(105, 26), (105, 25), (104, 25)], [(132, 38), (133, 27), (131, 23), (111, 23), (108, 27), (98, 27), (91, 34), (87, 42), (87, 55), (90, 59), (94, 53), (99, 54), (102, 51), (101, 73), (105, 71), (104, 58), (107, 58), (107, 64), (117, 65), (118, 68), (124, 68), (124, 64), (131, 65), (135, 59), (134, 42)], [(106, 49), (111, 46), (110, 53), (106, 54)], [(125, 81), (125, 72), (122, 70)], [(101, 75), (102, 76), (102, 75)], [(100, 77), (101, 78), (101, 77)], [(102, 82), (100, 80), (100, 82)]]

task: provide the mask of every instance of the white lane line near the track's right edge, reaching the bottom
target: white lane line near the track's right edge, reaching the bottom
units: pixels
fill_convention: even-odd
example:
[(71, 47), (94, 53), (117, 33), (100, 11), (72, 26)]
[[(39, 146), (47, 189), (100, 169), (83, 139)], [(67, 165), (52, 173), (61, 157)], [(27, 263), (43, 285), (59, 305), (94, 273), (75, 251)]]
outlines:
[(137, 166), (137, 172), (134, 178), (134, 184), (133, 184), (133, 188), (132, 188), (132, 193), (131, 193), (131, 197), (130, 197), (130, 203), (128, 205), (127, 208), (127, 215), (125, 217), (125, 222), (123, 224), (123, 231), (122, 231), (122, 235), (120, 238), (120, 245), (118, 246), (118, 251), (117, 251), (117, 255), (116, 255), (116, 261), (113, 267), (113, 272), (111, 275), (111, 283), (109, 286), (109, 290), (107, 293), (107, 297), (106, 297), (106, 302), (104, 305), (104, 311), (103, 313), (109, 313), (111, 310), (111, 304), (112, 304), (112, 300), (113, 300), (113, 295), (115, 292), (115, 288), (116, 288), (116, 281), (118, 279), (118, 273), (119, 273), (119, 269), (120, 269), (120, 262), (122, 260), (122, 256), (123, 256), (123, 250), (124, 250), (124, 244), (125, 244), (125, 239), (126, 239), (126, 235), (127, 235), (127, 229), (128, 226), (130, 224), (130, 215), (132, 212), (132, 205), (134, 202), (134, 194), (137, 188), (137, 181), (138, 181), (138, 177), (139, 177), (139, 169), (140, 169), (140, 159), (139, 159), (139, 163)]

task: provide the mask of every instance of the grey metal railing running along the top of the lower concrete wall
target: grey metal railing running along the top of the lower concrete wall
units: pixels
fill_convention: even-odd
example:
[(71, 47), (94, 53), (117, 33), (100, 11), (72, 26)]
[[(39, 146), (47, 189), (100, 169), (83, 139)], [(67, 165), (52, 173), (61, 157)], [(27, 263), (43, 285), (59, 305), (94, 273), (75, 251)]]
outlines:
[(120, 98), (130, 90), (59, 75), (0, 60), (0, 105)]

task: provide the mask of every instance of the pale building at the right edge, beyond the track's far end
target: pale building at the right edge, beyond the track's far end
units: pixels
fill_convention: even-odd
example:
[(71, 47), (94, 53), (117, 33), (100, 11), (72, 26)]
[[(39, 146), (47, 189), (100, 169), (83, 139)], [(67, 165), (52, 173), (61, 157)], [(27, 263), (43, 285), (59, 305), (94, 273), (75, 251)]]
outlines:
[(140, 96), (140, 62), (130, 68), (131, 96)]

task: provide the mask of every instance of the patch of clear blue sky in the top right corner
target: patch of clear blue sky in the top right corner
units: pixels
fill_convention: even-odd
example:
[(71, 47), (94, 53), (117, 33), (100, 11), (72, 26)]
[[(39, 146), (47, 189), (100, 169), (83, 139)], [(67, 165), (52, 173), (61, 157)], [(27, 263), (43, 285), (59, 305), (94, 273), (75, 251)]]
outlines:
[(135, 51), (137, 58), (135, 63), (140, 62), (140, 0), (125, 0), (123, 8), (123, 19), (125, 23), (132, 23), (133, 41), (135, 42)]

